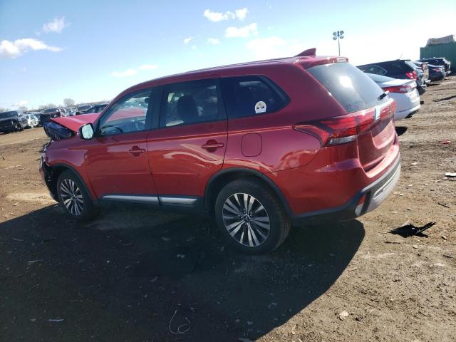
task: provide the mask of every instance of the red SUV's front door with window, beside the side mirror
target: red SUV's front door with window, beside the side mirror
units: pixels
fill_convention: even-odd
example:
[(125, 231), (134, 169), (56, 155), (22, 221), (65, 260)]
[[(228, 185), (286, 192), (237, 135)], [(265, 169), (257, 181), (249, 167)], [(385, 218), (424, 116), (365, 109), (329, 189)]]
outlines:
[(86, 170), (98, 198), (154, 202), (154, 196), (145, 196), (157, 193), (147, 160), (151, 92), (140, 90), (118, 100), (100, 118), (95, 138), (88, 140)]

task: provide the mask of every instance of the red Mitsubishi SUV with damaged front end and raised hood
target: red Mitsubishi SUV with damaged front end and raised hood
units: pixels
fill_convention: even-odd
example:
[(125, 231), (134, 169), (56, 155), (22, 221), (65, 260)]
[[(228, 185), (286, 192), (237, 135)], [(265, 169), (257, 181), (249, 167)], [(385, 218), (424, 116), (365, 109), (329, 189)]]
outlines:
[(271, 252), (291, 224), (353, 219), (385, 199), (400, 175), (394, 112), (346, 58), (209, 68), (53, 119), (71, 136), (46, 145), (41, 174), (75, 219), (104, 201), (204, 211), (232, 246)]

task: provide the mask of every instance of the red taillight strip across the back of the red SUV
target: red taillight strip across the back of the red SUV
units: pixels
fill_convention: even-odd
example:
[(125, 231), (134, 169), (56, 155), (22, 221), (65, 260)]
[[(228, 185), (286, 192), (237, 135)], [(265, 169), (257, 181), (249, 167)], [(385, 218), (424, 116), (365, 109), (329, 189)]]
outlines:
[(358, 135), (371, 130), (380, 120), (393, 118), (395, 113), (395, 101), (375, 108), (360, 110), (347, 115), (334, 118), (297, 123), (295, 130), (313, 135), (320, 140), (321, 147), (341, 145), (355, 141)]

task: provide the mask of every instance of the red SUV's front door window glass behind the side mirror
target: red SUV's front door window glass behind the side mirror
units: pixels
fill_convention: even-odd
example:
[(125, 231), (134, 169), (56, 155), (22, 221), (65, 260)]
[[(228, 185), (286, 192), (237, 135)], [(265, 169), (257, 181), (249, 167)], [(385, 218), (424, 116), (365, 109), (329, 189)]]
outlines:
[(147, 89), (126, 95), (109, 108), (100, 120), (100, 135), (104, 137), (145, 130), (150, 93), (151, 90)]

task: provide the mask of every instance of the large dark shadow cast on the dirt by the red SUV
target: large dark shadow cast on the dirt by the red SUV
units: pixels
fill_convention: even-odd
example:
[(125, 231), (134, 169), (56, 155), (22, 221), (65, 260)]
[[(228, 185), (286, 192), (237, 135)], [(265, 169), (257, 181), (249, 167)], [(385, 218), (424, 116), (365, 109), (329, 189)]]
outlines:
[(2, 341), (253, 340), (327, 291), (364, 237), (358, 221), (296, 228), (247, 257), (208, 219), (110, 208), (78, 224), (57, 206), (0, 232)]

